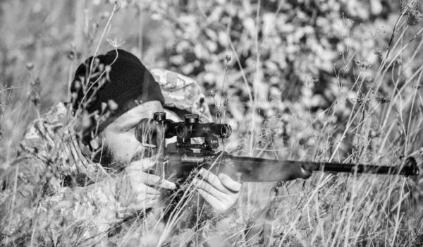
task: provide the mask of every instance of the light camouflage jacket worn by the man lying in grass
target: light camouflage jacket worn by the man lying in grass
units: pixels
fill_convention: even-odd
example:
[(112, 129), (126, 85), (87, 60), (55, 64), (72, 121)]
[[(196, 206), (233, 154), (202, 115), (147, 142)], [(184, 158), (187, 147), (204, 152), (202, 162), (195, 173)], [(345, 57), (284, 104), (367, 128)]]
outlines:
[[(200, 114), (211, 121), (200, 86), (186, 76), (151, 70), (161, 86), (165, 108)], [(113, 193), (114, 178), (90, 163), (75, 140), (70, 107), (59, 103), (27, 127), (20, 151), (2, 176), (0, 245), (73, 246), (106, 244), (125, 208)], [(95, 183), (63, 186), (63, 178), (86, 174)], [(106, 244), (108, 245), (108, 244)]]

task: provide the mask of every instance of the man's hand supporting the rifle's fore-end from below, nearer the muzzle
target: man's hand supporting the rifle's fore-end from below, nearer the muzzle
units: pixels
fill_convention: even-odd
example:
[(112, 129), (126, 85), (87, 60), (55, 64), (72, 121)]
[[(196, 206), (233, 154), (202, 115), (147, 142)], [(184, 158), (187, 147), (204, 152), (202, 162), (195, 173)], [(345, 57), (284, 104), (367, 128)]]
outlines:
[(231, 179), (226, 174), (216, 176), (206, 169), (200, 169), (199, 174), (203, 179), (194, 179), (197, 191), (217, 213), (230, 209), (238, 200), (243, 185)]

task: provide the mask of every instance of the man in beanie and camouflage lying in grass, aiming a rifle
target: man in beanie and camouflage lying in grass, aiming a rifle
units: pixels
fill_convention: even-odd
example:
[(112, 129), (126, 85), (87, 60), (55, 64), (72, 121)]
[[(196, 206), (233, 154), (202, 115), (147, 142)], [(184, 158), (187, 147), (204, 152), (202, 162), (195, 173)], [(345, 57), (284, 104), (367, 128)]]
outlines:
[[(157, 163), (155, 146), (139, 143), (135, 126), (164, 111), (176, 121), (189, 112), (209, 121), (200, 87), (170, 71), (150, 73), (133, 54), (116, 49), (81, 64), (71, 92), (72, 104), (56, 104), (27, 128), (22, 150), (3, 177), (1, 243), (107, 244), (122, 229), (142, 229), (128, 219), (144, 218), (142, 226), (154, 228), (144, 230), (157, 234), (153, 241), (123, 236), (141, 245), (166, 242), (171, 224), (157, 227), (149, 218), (163, 222), (169, 215), (157, 209), (159, 199), (176, 184), (148, 172)], [(241, 184), (204, 169), (199, 175), (204, 179), (191, 183), (191, 197), (197, 192), (215, 215), (224, 215)], [(117, 241), (125, 239), (121, 236)]]

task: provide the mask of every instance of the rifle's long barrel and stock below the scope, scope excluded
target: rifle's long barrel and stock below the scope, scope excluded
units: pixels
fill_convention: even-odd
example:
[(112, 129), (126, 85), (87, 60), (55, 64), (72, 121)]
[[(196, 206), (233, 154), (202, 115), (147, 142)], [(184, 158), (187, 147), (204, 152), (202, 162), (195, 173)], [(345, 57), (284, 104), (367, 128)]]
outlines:
[[(182, 165), (181, 165), (182, 164)], [(239, 157), (219, 152), (214, 155), (173, 153), (169, 155), (168, 169), (176, 172), (177, 177), (187, 174), (194, 168), (204, 167), (215, 174), (223, 173), (231, 178), (245, 182), (274, 182), (308, 179), (313, 171), (400, 174), (412, 176), (419, 174), (417, 162), (410, 157), (403, 167), (377, 166), (370, 164), (343, 164), (331, 162), (301, 162), (294, 160), (263, 159)]]

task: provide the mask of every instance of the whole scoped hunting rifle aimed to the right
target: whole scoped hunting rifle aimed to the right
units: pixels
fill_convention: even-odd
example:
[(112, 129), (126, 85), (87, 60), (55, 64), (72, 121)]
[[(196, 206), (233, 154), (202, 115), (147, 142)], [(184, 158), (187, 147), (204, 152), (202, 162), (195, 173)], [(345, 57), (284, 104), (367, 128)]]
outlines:
[[(231, 136), (231, 126), (223, 123), (200, 123), (197, 114), (186, 114), (185, 121), (166, 119), (166, 113), (156, 112), (153, 119), (142, 119), (135, 128), (140, 143), (157, 141), (159, 164), (156, 174), (161, 179), (180, 182), (194, 169), (209, 169), (227, 174), (244, 182), (273, 182), (308, 179), (313, 171), (357, 174), (389, 174), (415, 176), (419, 174), (414, 157), (408, 157), (400, 166), (372, 164), (345, 164), (336, 162), (302, 162), (295, 160), (238, 157), (227, 152), (216, 152), (219, 138)], [(164, 139), (176, 136), (175, 145), (165, 147)], [(202, 138), (202, 143), (192, 143)], [(153, 141), (152, 141), (153, 140)], [(156, 144), (157, 144), (156, 143)]]

